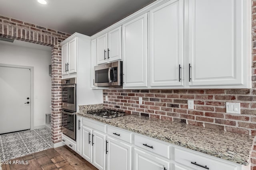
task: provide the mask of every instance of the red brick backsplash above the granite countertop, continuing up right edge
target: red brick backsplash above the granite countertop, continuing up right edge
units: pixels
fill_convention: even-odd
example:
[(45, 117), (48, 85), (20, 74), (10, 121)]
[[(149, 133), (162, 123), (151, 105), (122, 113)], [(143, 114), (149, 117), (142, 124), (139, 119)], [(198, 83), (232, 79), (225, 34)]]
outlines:
[[(252, 0), (252, 89), (112, 89), (103, 90), (103, 97), (109, 109), (256, 136), (256, 0)], [(143, 104), (138, 104), (139, 97)], [(188, 109), (190, 99), (193, 110)], [(241, 115), (226, 113), (226, 102), (240, 102)], [(256, 145), (251, 162), (256, 170)]]

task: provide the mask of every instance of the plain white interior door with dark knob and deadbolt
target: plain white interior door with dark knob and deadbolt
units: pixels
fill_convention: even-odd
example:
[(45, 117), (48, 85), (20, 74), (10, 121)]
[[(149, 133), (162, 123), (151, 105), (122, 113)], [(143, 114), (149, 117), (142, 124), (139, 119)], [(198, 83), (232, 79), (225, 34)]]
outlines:
[(30, 129), (29, 68), (0, 66), (0, 108), (0, 134)]

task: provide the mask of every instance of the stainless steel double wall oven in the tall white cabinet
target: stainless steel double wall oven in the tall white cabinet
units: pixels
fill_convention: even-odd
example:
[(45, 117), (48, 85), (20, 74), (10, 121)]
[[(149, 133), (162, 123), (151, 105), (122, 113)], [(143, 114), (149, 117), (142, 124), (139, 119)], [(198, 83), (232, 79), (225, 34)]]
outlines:
[(76, 78), (63, 79), (61, 131), (76, 140)]

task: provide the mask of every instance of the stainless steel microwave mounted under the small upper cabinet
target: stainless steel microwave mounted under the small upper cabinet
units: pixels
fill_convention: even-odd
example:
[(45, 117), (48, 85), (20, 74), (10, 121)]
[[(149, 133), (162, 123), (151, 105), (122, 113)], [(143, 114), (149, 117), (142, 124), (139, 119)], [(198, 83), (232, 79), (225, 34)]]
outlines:
[(94, 66), (94, 86), (115, 87), (123, 85), (123, 62)]

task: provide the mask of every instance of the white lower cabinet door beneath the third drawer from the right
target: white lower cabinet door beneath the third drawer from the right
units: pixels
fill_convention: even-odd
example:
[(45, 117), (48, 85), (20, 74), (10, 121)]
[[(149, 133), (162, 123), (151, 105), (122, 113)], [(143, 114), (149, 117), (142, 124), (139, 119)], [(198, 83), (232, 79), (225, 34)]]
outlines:
[[(107, 139), (107, 170), (132, 170), (132, 146), (112, 137)], [(118, 161), (116, 161), (118, 160)]]

